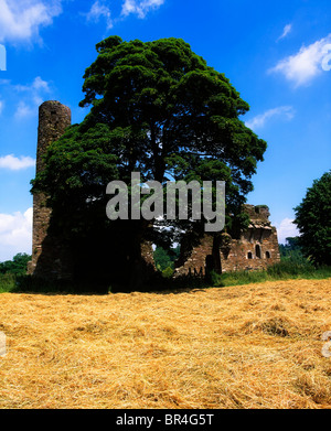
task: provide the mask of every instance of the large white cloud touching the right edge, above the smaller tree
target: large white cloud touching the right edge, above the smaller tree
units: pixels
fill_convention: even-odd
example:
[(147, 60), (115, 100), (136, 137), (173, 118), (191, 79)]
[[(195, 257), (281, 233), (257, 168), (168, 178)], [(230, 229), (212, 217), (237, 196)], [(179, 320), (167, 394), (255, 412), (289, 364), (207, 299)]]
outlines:
[(268, 72), (282, 74), (296, 87), (307, 85), (323, 72), (322, 61), (325, 56), (325, 45), (330, 43), (331, 33), (311, 45), (303, 45), (297, 54), (281, 60)]

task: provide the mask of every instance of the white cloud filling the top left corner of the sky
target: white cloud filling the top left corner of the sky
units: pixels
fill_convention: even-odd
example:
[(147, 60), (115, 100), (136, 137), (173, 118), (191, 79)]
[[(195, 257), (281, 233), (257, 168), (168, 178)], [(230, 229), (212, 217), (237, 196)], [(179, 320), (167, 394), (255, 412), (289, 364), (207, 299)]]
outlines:
[(26, 42), (62, 12), (61, 0), (0, 0), (0, 42)]

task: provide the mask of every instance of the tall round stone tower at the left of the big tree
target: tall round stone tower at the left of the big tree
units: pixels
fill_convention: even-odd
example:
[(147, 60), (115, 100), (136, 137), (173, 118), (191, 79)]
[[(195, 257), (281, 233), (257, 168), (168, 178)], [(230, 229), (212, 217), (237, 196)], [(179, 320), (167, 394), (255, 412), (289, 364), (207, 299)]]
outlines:
[[(44, 101), (39, 108), (36, 173), (44, 169), (43, 155), (47, 147), (61, 138), (71, 126), (72, 115), (68, 107), (55, 100)], [(67, 278), (68, 261), (60, 238), (52, 238), (47, 233), (51, 208), (46, 207), (43, 193), (33, 196), (33, 236), (32, 260), (28, 272), (40, 278)]]

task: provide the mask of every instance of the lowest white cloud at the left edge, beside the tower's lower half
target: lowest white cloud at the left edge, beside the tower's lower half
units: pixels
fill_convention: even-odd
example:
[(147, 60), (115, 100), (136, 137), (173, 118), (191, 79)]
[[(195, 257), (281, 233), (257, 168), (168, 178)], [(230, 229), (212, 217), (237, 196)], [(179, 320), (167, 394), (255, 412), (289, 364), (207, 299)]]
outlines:
[(32, 208), (24, 214), (0, 214), (0, 261), (10, 260), (18, 252), (31, 255)]

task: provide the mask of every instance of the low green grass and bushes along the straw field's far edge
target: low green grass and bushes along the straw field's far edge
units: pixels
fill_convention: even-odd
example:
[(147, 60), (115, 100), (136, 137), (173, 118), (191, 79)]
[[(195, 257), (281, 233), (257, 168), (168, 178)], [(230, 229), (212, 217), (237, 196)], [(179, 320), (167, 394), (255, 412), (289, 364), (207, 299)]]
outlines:
[[(297, 237), (286, 238), (286, 245), (279, 245), (281, 261), (270, 266), (264, 271), (237, 271), (227, 272), (222, 276), (211, 272), (206, 279), (181, 277), (172, 280), (173, 262), (179, 257), (180, 247), (174, 247), (170, 251), (162, 247), (154, 250), (154, 260), (159, 274), (152, 284), (146, 285), (146, 291), (160, 291), (169, 289), (199, 289), (209, 287), (241, 285), (255, 282), (288, 280), (288, 279), (327, 279), (331, 277), (330, 266), (319, 266), (318, 268), (302, 254), (301, 246)], [(40, 293), (108, 293), (120, 291), (116, 284), (97, 285), (97, 281), (79, 284), (74, 282), (58, 282), (38, 280), (31, 276), (25, 276), (26, 263), (30, 256), (19, 254), (12, 261), (0, 263), (0, 293), (3, 292), (40, 292)], [(4, 270), (6, 269), (6, 270)], [(97, 287), (96, 287), (97, 285)]]

